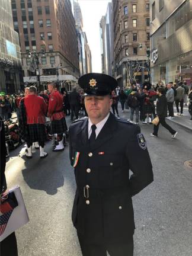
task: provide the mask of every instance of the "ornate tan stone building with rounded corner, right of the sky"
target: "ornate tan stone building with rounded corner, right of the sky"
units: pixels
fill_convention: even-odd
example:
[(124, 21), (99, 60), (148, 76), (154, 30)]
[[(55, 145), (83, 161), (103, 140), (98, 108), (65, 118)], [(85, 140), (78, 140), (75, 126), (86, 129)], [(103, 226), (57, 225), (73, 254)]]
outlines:
[(113, 0), (114, 65), (120, 87), (149, 79), (149, 0)]

